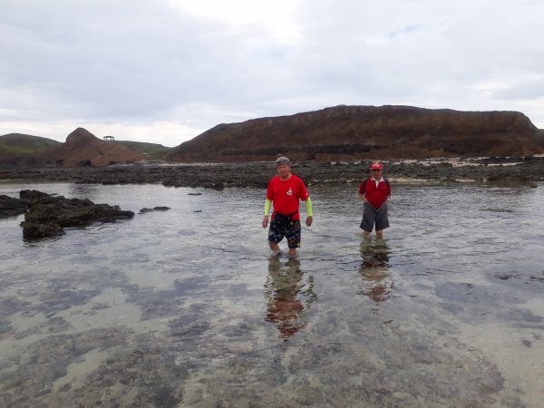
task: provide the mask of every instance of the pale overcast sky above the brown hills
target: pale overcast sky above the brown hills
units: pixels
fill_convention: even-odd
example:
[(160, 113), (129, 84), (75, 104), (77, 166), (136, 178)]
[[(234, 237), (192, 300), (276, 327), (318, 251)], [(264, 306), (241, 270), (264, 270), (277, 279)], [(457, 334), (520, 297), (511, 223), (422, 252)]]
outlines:
[(0, 135), (177, 146), (339, 104), (544, 128), (541, 0), (0, 0)]

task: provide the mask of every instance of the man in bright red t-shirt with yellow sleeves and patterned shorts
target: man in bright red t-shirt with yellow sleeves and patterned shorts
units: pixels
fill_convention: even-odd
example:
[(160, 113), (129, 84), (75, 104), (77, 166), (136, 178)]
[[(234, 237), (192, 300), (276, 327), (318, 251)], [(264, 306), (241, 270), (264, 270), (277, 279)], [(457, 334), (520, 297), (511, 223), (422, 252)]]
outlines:
[(268, 229), (268, 245), (274, 253), (279, 252), (277, 245), (284, 237), (287, 238), (289, 255), (296, 255), (296, 248), (300, 247), (300, 215), (298, 214), (299, 200), (306, 202), (306, 225), (312, 225), (312, 200), (304, 185), (295, 174), (291, 173), (291, 165), (287, 157), (276, 160), (277, 176), (268, 183), (267, 201), (265, 203), (265, 218), (263, 228), (268, 225), (268, 213), (274, 203), (272, 220)]

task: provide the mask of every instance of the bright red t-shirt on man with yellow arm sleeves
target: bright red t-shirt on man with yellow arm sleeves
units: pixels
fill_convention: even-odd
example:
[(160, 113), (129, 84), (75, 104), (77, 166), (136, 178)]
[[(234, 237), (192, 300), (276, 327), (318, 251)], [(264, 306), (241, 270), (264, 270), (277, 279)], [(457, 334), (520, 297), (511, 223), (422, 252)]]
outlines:
[(287, 180), (281, 180), (279, 176), (276, 176), (268, 183), (267, 199), (274, 202), (272, 219), (274, 214), (279, 212), (286, 215), (295, 213), (291, 219), (299, 220), (298, 200), (306, 201), (308, 197), (310, 195), (304, 182), (295, 174), (291, 174)]

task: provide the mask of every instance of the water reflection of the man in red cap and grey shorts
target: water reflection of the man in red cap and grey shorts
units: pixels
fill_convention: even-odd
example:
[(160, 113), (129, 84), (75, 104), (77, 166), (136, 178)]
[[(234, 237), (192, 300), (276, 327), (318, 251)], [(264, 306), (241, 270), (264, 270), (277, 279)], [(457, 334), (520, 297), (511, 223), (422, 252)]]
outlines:
[(360, 293), (374, 302), (384, 302), (393, 289), (393, 281), (388, 279), (390, 274), (387, 242), (380, 238), (364, 238), (360, 250), (363, 262), (359, 273), (367, 283)]

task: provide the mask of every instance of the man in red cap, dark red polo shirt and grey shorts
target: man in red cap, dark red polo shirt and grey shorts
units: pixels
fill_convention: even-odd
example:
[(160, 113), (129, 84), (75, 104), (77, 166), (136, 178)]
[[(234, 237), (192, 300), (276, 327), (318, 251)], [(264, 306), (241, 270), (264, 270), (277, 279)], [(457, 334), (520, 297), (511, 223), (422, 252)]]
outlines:
[(359, 197), (363, 200), (363, 220), (359, 226), (364, 237), (368, 237), (376, 227), (376, 237), (384, 236), (384, 228), (389, 227), (387, 200), (391, 198), (389, 181), (382, 176), (382, 163), (374, 162), (370, 166), (372, 177), (363, 180), (359, 187)]

